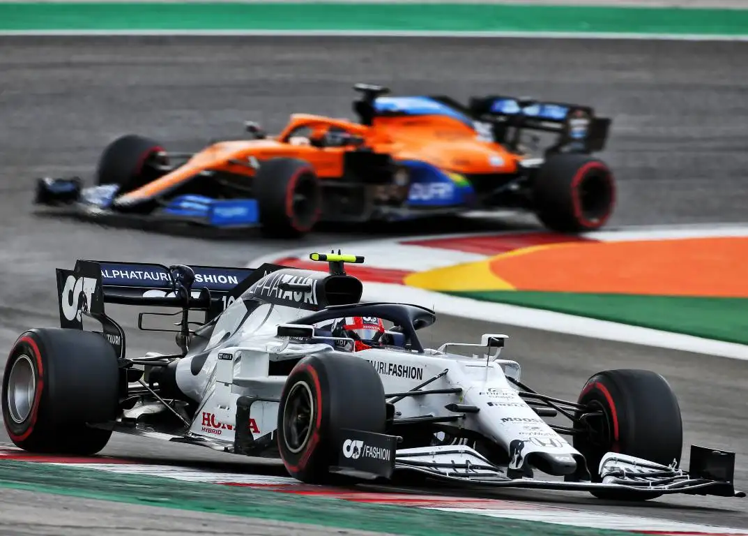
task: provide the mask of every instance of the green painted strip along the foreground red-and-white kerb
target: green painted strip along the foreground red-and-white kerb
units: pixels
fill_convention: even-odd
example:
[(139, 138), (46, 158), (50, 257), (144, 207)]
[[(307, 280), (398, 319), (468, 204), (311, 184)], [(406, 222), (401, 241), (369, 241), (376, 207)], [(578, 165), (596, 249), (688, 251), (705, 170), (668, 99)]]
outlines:
[(0, 460), (0, 487), (409, 536), (634, 536), (619, 531), (476, 518), (470, 514), (370, 505), (46, 463)]

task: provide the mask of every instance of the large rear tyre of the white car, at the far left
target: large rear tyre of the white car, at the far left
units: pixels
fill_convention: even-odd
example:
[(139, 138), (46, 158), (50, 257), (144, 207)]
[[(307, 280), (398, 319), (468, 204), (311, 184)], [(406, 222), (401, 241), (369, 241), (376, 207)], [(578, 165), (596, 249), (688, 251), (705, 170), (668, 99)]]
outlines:
[(88, 427), (117, 417), (117, 355), (99, 333), (30, 329), (5, 364), (2, 416), (25, 451), (96, 454), (111, 430)]

